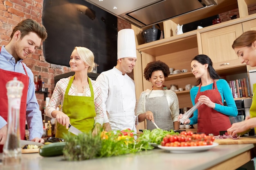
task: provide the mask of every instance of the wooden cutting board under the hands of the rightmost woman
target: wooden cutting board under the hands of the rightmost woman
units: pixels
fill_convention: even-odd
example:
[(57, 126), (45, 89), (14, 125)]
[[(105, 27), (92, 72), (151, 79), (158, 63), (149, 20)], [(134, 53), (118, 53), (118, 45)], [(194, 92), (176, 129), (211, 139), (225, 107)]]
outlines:
[(214, 142), (220, 145), (256, 144), (256, 138), (240, 137), (239, 139), (215, 139)]

